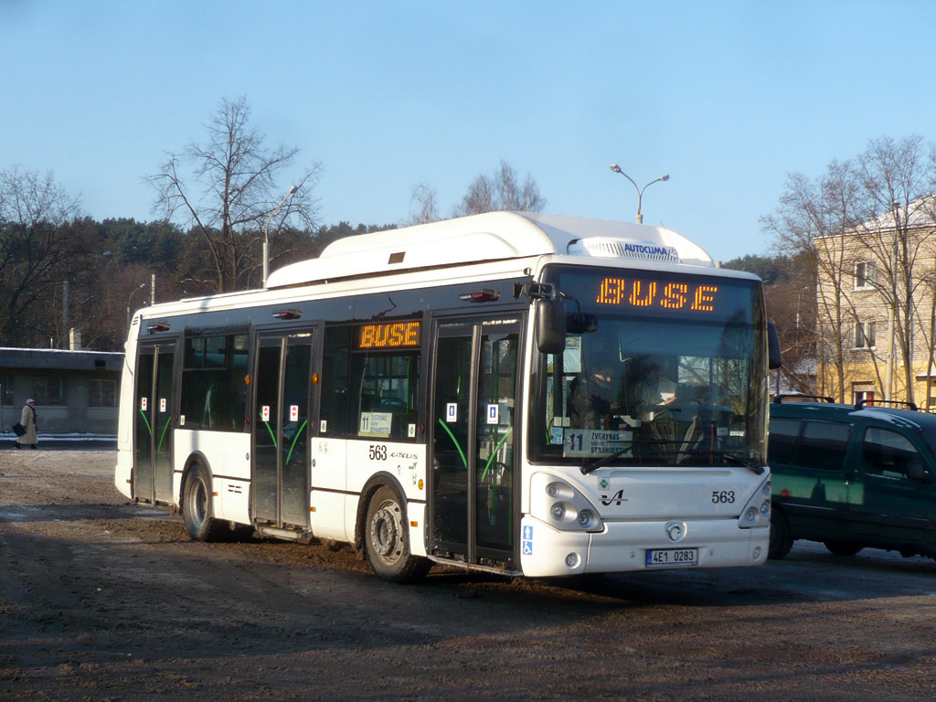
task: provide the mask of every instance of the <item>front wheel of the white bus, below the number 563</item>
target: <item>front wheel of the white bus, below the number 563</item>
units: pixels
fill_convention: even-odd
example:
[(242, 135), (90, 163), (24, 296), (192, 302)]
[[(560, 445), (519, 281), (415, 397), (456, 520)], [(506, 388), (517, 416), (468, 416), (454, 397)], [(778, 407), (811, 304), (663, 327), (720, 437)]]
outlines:
[(367, 505), (364, 549), (373, 572), (391, 582), (423, 578), (431, 562), (414, 556), (409, 548), (406, 507), (396, 490), (381, 486)]

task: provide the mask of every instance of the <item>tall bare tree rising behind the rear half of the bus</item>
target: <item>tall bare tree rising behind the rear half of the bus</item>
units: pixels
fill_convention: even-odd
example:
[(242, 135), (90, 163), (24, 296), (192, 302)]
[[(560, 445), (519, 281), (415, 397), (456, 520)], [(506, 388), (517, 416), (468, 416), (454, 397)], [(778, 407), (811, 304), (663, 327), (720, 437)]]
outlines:
[[(167, 218), (181, 216), (202, 238), (210, 277), (200, 282), (216, 292), (237, 289), (261, 265), (260, 243), (273, 212), (273, 235), (288, 223), (311, 229), (317, 213), (313, 190), (320, 165), (286, 183), (286, 170), (299, 150), (268, 149), (249, 120), (246, 98), (223, 99), (205, 124), (207, 139), (191, 142), (181, 154), (168, 154), (159, 172), (147, 179), (157, 194), (154, 210)], [(276, 210), (290, 185), (297, 186), (296, 194)]]

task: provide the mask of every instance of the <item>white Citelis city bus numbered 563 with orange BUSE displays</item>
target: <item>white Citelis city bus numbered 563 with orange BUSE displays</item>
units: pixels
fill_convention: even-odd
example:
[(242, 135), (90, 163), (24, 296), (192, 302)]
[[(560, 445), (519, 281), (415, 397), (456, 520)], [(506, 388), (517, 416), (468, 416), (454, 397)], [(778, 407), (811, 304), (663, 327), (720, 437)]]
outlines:
[(756, 565), (770, 331), (756, 277), (662, 227), (349, 237), (134, 315), (115, 482), (194, 539), (345, 542), (390, 580)]

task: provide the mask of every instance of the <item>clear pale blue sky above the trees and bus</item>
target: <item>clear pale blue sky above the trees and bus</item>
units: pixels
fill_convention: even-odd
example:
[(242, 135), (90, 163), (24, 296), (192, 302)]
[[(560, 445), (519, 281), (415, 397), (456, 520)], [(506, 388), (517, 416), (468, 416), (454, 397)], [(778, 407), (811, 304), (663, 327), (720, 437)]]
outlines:
[[(936, 139), (930, 2), (0, 0), (0, 168), (51, 170), (97, 219), (157, 218), (143, 178), (246, 96), (324, 167), (333, 224), (447, 213), (504, 159), (547, 212), (766, 253), (786, 175)], [(300, 170), (300, 168), (297, 168)], [(288, 189), (283, 183), (284, 192)]]

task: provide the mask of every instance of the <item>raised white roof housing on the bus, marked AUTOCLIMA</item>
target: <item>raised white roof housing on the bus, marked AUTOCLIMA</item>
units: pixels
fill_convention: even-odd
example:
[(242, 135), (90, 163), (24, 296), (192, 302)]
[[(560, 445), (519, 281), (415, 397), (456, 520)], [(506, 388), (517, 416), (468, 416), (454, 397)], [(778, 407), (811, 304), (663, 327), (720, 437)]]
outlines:
[(714, 266), (700, 246), (665, 227), (558, 214), (486, 212), (334, 241), (318, 258), (273, 271), (267, 287), (544, 255)]

